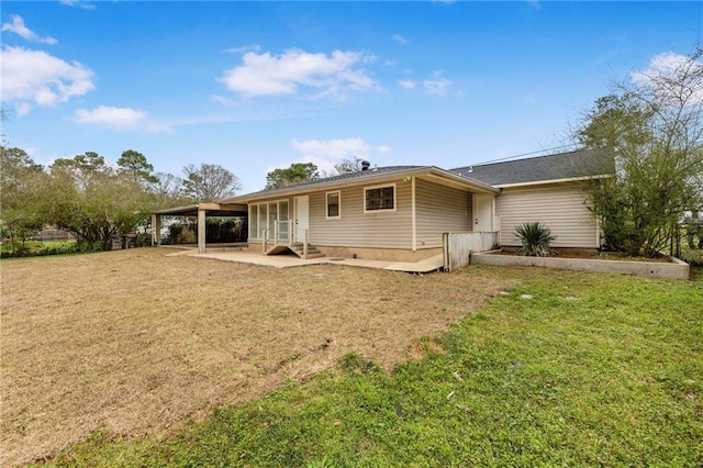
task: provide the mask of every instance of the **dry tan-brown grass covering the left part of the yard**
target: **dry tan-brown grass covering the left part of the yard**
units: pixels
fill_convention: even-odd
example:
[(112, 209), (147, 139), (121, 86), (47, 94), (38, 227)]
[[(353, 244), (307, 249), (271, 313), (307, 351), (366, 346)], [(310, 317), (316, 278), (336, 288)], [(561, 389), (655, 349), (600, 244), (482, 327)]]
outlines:
[(167, 253), (2, 261), (0, 465), (96, 430), (168, 431), (350, 352), (392, 370), (509, 286), (487, 270), (275, 269)]

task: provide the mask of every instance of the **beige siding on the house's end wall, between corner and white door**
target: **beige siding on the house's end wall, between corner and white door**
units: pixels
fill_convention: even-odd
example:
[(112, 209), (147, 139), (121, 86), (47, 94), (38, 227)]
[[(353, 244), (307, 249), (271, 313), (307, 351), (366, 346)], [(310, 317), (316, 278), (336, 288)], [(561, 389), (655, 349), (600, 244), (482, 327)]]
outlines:
[(442, 247), (442, 233), (471, 231), (471, 193), (415, 181), (417, 248)]

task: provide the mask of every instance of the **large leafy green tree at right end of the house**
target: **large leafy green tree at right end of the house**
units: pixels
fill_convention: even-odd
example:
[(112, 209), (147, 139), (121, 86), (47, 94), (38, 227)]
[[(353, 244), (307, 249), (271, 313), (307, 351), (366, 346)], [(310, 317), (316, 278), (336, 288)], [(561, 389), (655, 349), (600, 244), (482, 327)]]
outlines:
[(668, 56), (599, 99), (577, 132), (615, 157), (616, 176), (592, 183), (593, 210), (611, 248), (655, 256), (687, 210), (703, 204), (703, 49)]

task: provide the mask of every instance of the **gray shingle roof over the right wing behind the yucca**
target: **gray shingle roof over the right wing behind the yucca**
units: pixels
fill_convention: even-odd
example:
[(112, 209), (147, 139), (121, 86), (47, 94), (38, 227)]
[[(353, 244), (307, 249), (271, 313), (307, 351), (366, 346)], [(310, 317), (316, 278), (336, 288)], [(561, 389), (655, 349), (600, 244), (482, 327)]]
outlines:
[(615, 163), (612, 156), (601, 149), (580, 149), (557, 155), (459, 167), (450, 171), (491, 186), (503, 186), (615, 174)]

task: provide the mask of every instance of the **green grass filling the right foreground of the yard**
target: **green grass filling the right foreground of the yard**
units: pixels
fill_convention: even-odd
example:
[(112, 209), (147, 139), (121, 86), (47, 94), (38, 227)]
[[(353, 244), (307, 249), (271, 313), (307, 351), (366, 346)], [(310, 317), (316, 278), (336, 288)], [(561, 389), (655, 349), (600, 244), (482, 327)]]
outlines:
[(703, 465), (703, 281), (504, 271), (521, 286), (391, 376), (348, 355), (175, 434), (98, 433), (49, 465)]

